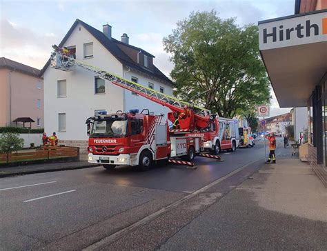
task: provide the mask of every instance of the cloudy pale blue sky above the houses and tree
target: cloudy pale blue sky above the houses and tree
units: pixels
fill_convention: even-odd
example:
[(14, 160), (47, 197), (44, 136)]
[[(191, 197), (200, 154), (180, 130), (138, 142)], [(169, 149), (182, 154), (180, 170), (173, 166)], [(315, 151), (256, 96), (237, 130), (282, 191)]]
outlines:
[[(42, 68), (76, 19), (102, 30), (112, 26), (112, 37), (127, 33), (130, 44), (156, 56), (155, 65), (169, 75), (172, 63), (162, 39), (192, 11), (216, 10), (223, 19), (236, 17), (239, 26), (294, 14), (295, 0), (217, 1), (88, 1), (0, 0), (0, 57)], [(272, 93), (273, 95), (273, 93)], [(273, 95), (275, 97), (275, 95)], [(272, 101), (271, 116), (288, 112)]]

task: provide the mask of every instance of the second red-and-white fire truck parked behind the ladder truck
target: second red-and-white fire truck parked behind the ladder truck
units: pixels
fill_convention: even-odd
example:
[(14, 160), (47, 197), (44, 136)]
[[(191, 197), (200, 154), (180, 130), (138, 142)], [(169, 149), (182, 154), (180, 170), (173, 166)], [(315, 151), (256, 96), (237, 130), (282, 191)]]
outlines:
[(238, 122), (235, 119), (217, 117), (212, 123), (212, 140), (204, 142), (204, 148), (219, 154), (221, 150), (235, 152), (239, 145)]

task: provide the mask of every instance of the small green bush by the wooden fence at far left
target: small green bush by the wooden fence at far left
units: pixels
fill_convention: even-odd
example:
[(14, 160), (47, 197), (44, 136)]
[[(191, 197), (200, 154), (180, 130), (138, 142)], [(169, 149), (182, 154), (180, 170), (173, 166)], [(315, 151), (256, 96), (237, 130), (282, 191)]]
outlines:
[(24, 140), (19, 138), (15, 132), (3, 132), (0, 137), (0, 152), (11, 153), (21, 150), (24, 146)]

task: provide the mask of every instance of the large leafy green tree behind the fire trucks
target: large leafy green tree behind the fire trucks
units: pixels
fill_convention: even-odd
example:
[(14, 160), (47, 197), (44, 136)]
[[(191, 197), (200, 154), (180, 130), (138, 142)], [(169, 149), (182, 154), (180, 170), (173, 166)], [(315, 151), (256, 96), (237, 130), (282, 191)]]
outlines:
[(258, 43), (257, 26), (239, 28), (235, 19), (222, 20), (213, 10), (179, 21), (164, 38), (179, 98), (229, 118), (268, 103), (270, 83)]

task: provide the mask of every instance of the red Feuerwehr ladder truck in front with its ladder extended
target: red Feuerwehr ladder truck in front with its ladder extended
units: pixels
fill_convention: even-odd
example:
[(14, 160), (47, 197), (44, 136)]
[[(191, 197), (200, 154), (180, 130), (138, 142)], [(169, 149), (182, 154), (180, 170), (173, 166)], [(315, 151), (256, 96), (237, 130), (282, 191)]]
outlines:
[(117, 165), (138, 165), (141, 170), (148, 170), (153, 161), (161, 159), (191, 166), (196, 154), (220, 159), (219, 156), (203, 153), (204, 142), (215, 137), (212, 128), (217, 128), (212, 126), (217, 119), (210, 110), (90, 66), (59, 49), (52, 52), (50, 66), (63, 71), (74, 70), (78, 66), (171, 110), (168, 119), (175, 123), (174, 128), (169, 128), (163, 116), (151, 114), (148, 109), (141, 112), (137, 109), (129, 112), (120, 110), (115, 114), (103, 112), (88, 118), (88, 162), (99, 163), (106, 169)]

